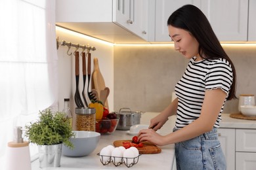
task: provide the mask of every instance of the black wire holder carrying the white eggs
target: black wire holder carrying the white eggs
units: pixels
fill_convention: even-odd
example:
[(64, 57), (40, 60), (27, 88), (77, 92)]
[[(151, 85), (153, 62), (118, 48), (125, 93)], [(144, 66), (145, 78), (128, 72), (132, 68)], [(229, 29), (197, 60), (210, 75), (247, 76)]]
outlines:
[[(116, 167), (121, 165), (121, 164), (125, 164), (125, 166), (127, 167), (132, 167), (133, 165), (135, 165), (136, 163), (138, 163), (139, 161), (139, 156), (141, 156), (141, 154), (139, 154), (139, 156), (135, 157), (135, 158), (124, 158), (124, 157), (118, 157), (118, 156), (104, 156), (104, 155), (100, 155), (100, 153), (97, 154), (98, 156), (100, 156), (100, 162), (103, 165), (108, 165), (110, 162), (112, 162)], [(108, 161), (103, 162), (103, 157), (107, 157), (109, 158)], [(114, 158), (114, 161), (112, 160), (112, 158)], [(121, 161), (115, 161), (116, 158), (121, 158)], [(133, 160), (132, 163), (128, 164), (128, 160)]]

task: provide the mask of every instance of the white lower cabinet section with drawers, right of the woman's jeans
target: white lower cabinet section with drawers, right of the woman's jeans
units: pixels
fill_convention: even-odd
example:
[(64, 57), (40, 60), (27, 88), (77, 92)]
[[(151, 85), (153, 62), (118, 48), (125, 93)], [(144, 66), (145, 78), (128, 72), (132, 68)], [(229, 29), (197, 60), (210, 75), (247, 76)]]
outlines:
[(256, 129), (219, 128), (219, 140), (228, 169), (252, 170), (256, 167)]

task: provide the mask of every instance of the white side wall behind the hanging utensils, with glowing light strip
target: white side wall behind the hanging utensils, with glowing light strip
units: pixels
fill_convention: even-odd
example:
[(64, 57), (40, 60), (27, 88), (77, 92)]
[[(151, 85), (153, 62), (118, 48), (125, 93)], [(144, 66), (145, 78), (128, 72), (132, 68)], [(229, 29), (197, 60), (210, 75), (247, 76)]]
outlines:
[[(114, 108), (114, 48), (112, 44), (106, 44), (102, 41), (92, 39), (85, 35), (75, 33), (73, 31), (68, 31), (60, 27), (56, 27), (56, 36), (59, 41), (72, 42), (74, 44), (89, 44), (90, 46), (95, 46), (96, 50), (91, 51), (92, 66), (91, 72), (93, 73), (94, 65), (93, 58), (98, 58), (100, 73), (104, 77), (105, 84), (110, 88), (110, 95), (108, 96), (108, 105), (110, 111)], [(75, 103), (74, 103), (74, 93), (75, 93), (75, 57), (74, 55), (68, 56), (67, 54), (68, 46), (59, 46), (58, 48), (58, 110), (62, 110), (64, 107), (64, 98), (70, 98), (70, 107), (72, 112), (75, 114)], [(70, 52), (74, 52), (75, 47), (70, 49)], [(79, 52), (82, 49), (79, 48)], [(79, 58), (79, 92), (83, 91), (83, 74), (82, 74), (82, 58)], [(88, 80), (88, 78), (87, 78)], [(91, 82), (90, 82), (91, 84)], [(89, 88), (91, 90), (91, 88)], [(81, 95), (82, 97), (82, 95)], [(89, 101), (89, 99), (87, 100)]]

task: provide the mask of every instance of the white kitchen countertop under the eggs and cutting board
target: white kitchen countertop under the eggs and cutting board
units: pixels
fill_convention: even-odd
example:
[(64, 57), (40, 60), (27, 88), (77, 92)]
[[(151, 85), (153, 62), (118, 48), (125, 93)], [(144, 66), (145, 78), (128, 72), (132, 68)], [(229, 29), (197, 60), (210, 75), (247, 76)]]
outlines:
[[(156, 116), (158, 112), (146, 112), (142, 114), (140, 124), (149, 124), (150, 119)], [(256, 129), (256, 120), (242, 120), (236, 118), (230, 118), (230, 114), (223, 114), (221, 128), (238, 128), (238, 129)], [(167, 123), (159, 130), (161, 135), (171, 133), (175, 126), (176, 116), (171, 116)], [(113, 144), (116, 140), (131, 139), (133, 136), (128, 135), (125, 131), (116, 130), (111, 135), (101, 135), (98, 146), (89, 156), (81, 158), (70, 158), (62, 156), (59, 168), (45, 168), (45, 170), (75, 170), (75, 169), (127, 169), (125, 165), (115, 167), (112, 163), (108, 165), (102, 165), (100, 158), (96, 156), (98, 152), (109, 144)], [(161, 169), (172, 169), (173, 161), (175, 158), (174, 144), (167, 146), (161, 146), (160, 154), (142, 154), (139, 158), (139, 162), (129, 169), (156, 169), (158, 165), (161, 165)], [(32, 170), (39, 170), (39, 160), (35, 160), (32, 163)]]

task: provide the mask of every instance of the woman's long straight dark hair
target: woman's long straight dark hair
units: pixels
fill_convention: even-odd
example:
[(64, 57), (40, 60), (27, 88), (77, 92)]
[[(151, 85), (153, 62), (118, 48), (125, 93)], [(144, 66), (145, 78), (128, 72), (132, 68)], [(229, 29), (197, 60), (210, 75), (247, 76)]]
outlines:
[(233, 82), (227, 99), (236, 99), (236, 69), (231, 59), (224, 52), (221, 43), (217, 39), (203, 12), (194, 5), (184, 5), (171, 14), (167, 25), (172, 25), (173, 27), (190, 32), (199, 43), (198, 52), (202, 58), (224, 58), (230, 63), (233, 71)]

